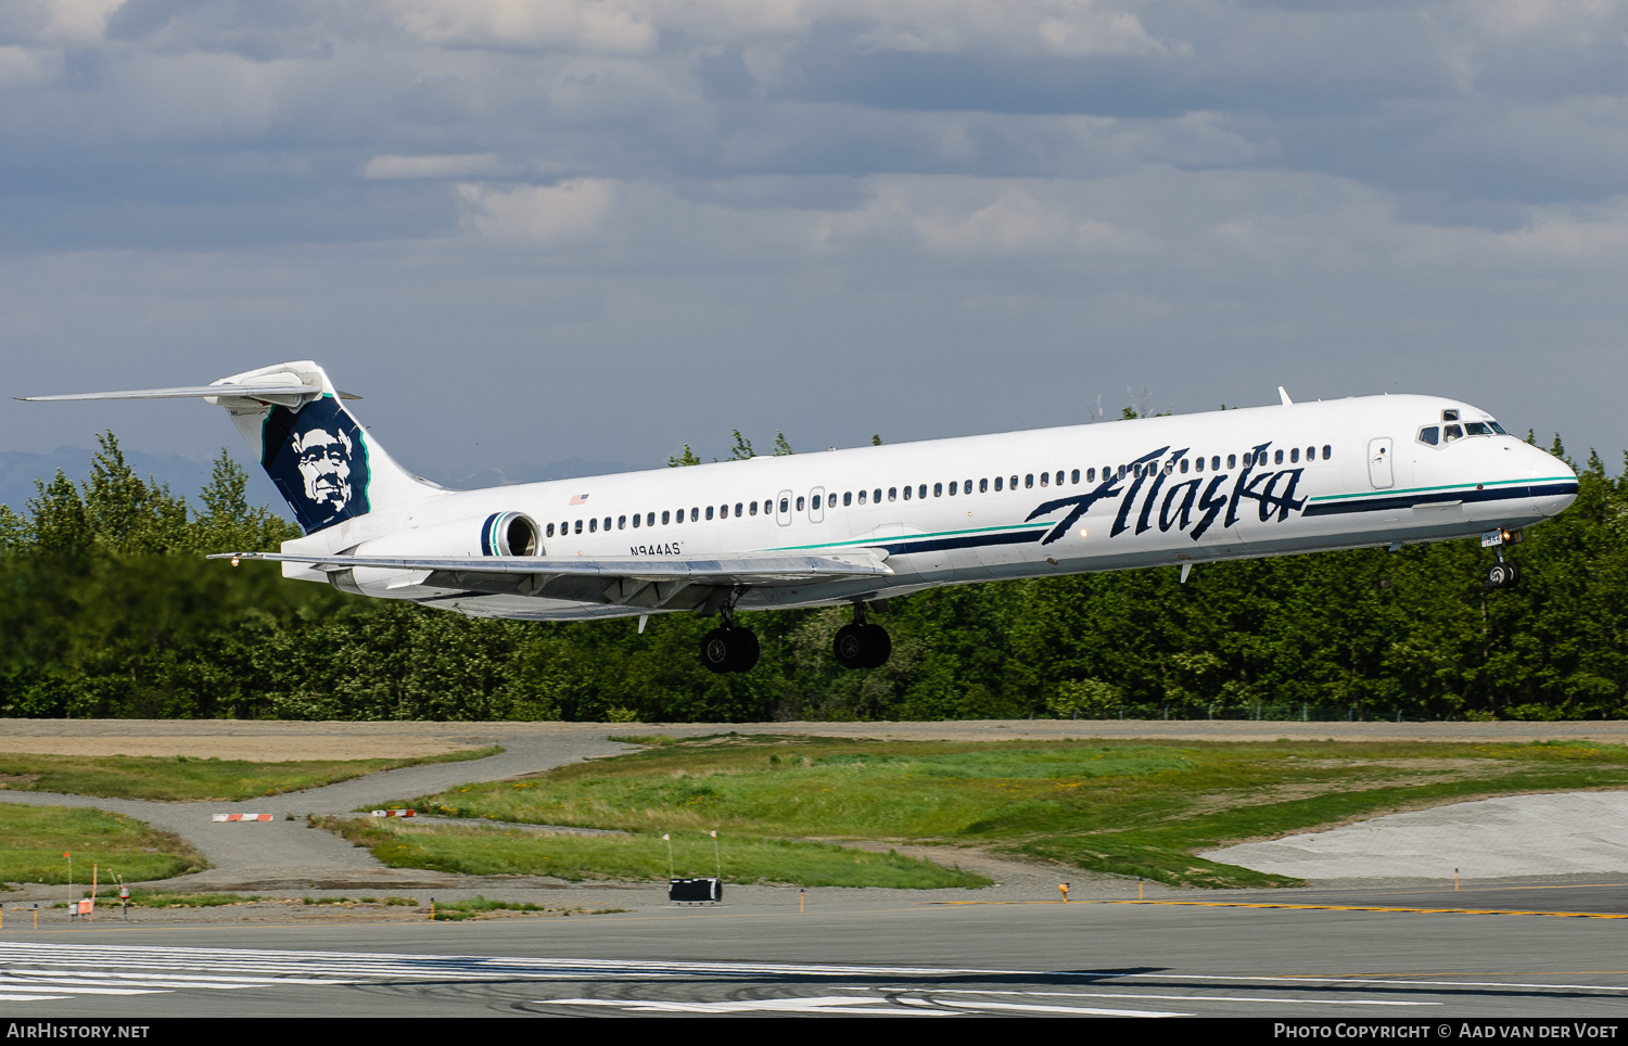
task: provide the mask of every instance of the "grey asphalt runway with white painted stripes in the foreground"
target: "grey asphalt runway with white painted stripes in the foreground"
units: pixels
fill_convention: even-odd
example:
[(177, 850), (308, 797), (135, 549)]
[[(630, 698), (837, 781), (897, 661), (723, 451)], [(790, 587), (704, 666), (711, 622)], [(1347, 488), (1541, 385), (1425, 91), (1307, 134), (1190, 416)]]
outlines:
[[(8, 927), (0, 1015), (1628, 1018), (1628, 926), (1587, 914), (1628, 914), (1625, 883), (1284, 893)], [(1586, 914), (1488, 914), (1514, 896)]]

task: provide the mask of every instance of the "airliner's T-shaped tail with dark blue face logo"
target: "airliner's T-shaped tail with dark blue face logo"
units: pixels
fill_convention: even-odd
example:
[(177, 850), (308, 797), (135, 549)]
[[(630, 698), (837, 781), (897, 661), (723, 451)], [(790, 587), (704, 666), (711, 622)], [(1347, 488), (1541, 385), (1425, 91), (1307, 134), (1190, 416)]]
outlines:
[(405, 508), (441, 493), (391, 459), (357, 423), (316, 363), (277, 363), (208, 386), (132, 389), (23, 400), (202, 399), (225, 407), (306, 534), (368, 512)]

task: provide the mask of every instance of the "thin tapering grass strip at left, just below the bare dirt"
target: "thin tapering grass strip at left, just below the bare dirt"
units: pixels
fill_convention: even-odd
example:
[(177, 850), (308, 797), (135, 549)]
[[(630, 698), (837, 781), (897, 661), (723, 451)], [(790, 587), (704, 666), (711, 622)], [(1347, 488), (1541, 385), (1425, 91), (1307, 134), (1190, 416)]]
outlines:
[(498, 752), (503, 748), (451, 752), (415, 760), (306, 760), (290, 763), (199, 760), (184, 755), (0, 755), (0, 789), (106, 799), (231, 802), (321, 787), (381, 769), (479, 760)]

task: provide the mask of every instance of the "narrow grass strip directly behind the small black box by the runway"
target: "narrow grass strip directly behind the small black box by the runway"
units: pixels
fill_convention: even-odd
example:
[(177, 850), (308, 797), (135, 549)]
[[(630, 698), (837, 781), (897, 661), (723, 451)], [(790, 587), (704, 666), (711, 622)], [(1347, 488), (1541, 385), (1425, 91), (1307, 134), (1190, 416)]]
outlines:
[[(552, 875), (664, 880), (667, 841), (659, 835), (573, 836), (498, 826), (418, 823), (381, 818), (321, 818), (391, 867), (435, 869), (466, 875)], [(988, 878), (899, 854), (876, 854), (829, 843), (724, 836), (716, 851), (710, 836), (676, 833), (671, 870), (681, 877), (713, 875), (721, 862), (731, 883), (794, 887), (987, 887)]]

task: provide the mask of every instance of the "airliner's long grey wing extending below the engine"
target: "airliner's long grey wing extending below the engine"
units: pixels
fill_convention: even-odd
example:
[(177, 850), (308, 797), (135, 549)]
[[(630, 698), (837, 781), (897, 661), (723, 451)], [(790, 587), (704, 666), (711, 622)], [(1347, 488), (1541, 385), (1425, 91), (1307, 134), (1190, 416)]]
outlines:
[(309, 563), (327, 574), (357, 569), (423, 571), (425, 587), (681, 608), (715, 594), (817, 581), (879, 577), (894, 571), (881, 550), (829, 555), (754, 551), (723, 556), (345, 556), (278, 551), (215, 553), (210, 560)]

